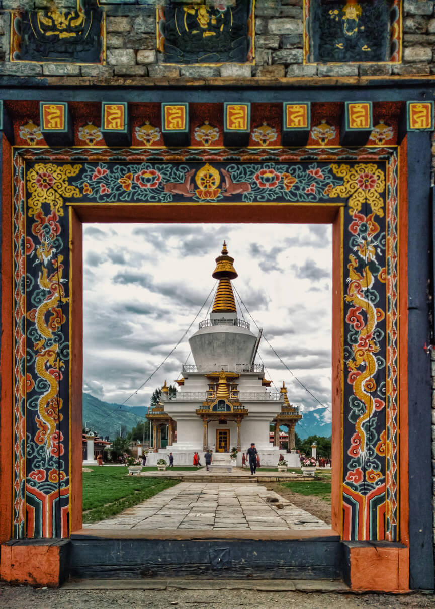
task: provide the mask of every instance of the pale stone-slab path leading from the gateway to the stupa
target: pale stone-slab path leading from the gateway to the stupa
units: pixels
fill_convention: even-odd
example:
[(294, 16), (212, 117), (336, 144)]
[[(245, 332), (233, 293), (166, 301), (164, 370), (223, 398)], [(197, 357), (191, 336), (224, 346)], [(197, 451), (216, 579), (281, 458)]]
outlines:
[[(267, 502), (267, 498), (278, 502)], [(258, 484), (180, 482), (89, 529), (330, 529), (316, 516)]]

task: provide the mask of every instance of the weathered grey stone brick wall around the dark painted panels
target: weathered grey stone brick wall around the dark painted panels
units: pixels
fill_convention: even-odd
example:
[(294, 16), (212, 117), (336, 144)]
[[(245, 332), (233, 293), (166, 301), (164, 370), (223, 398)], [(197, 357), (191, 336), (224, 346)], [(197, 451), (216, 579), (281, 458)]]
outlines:
[[(76, 0), (56, 0), (58, 7), (74, 8)], [(134, 3), (131, 3), (134, 2)], [(160, 2), (161, 3), (161, 2)], [(83, 77), (106, 82), (143, 79), (236, 80), (300, 77), (416, 76), (435, 72), (435, 13), (433, 0), (403, 0), (403, 60), (396, 65), (303, 65), (303, 0), (257, 0), (255, 63), (239, 65), (165, 65), (156, 51), (155, 9), (158, 0), (102, 1), (106, 13), (105, 65), (10, 62), (11, 11), (44, 8), (48, 0), (2, 0), (0, 6), (0, 76)], [(72, 82), (71, 82), (72, 83)]]

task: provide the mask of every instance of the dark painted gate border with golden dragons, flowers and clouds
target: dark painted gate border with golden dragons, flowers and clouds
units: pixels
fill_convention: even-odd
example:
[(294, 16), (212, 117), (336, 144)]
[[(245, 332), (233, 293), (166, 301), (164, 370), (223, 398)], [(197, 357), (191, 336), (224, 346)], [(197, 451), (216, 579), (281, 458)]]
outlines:
[(15, 537), (69, 534), (68, 205), (234, 200), (345, 206), (344, 537), (397, 540), (397, 155), (215, 153), (15, 151)]

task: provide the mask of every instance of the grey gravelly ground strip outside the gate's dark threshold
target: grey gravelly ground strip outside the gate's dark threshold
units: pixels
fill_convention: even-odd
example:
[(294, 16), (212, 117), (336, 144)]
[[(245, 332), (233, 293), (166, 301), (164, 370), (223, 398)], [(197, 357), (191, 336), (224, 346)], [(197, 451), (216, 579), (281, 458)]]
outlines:
[(279, 592), (256, 590), (34, 590), (25, 586), (0, 586), (2, 609), (249, 609), (274, 607), (275, 609), (356, 609), (380, 607), (382, 609), (427, 609), (435, 607), (431, 594), (331, 594)]

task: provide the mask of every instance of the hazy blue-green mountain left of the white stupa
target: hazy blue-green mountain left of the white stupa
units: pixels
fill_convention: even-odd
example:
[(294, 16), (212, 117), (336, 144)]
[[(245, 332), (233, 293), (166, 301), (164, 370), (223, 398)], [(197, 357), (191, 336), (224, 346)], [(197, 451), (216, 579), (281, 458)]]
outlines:
[(83, 427), (95, 429), (101, 437), (108, 435), (110, 440), (119, 435), (121, 426), (127, 432), (143, 421), (147, 414), (145, 406), (120, 406), (108, 404), (94, 398), (90, 393), (83, 393)]

